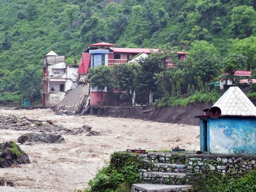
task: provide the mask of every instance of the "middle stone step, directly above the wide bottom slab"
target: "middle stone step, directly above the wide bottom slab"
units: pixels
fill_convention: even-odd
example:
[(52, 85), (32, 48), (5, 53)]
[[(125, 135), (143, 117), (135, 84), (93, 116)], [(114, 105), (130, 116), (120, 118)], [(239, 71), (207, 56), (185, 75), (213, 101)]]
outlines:
[(166, 185), (184, 185), (186, 183), (185, 173), (167, 173), (167, 172), (142, 172), (139, 171), (140, 180), (145, 183), (166, 184)]

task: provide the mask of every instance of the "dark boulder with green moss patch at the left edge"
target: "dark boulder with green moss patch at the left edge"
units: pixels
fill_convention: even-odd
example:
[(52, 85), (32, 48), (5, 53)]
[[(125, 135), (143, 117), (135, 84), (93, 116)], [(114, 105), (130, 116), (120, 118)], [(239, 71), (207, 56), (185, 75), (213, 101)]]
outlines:
[(13, 141), (0, 143), (0, 167), (30, 163), (28, 154), (24, 153)]

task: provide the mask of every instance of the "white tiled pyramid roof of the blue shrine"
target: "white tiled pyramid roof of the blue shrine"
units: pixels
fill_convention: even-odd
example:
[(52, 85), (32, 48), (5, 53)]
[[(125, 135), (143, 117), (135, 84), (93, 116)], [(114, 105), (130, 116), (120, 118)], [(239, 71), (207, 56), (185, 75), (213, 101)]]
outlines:
[(229, 87), (213, 107), (221, 109), (221, 115), (256, 116), (256, 107), (239, 87)]

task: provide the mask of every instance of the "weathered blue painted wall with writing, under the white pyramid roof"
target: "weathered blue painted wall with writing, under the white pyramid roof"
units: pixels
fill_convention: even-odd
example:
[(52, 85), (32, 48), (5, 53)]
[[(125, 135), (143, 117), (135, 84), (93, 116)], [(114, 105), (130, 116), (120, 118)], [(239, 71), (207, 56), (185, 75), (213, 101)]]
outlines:
[(207, 118), (207, 149), (212, 154), (256, 155), (256, 118)]

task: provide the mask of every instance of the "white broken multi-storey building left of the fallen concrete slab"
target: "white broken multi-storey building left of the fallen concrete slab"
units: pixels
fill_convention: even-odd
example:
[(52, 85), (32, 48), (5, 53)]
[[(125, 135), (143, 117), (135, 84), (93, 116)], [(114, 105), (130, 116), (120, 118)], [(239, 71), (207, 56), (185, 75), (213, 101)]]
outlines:
[(43, 59), (43, 106), (57, 105), (77, 83), (78, 66), (67, 65), (65, 56), (54, 51), (47, 53)]

